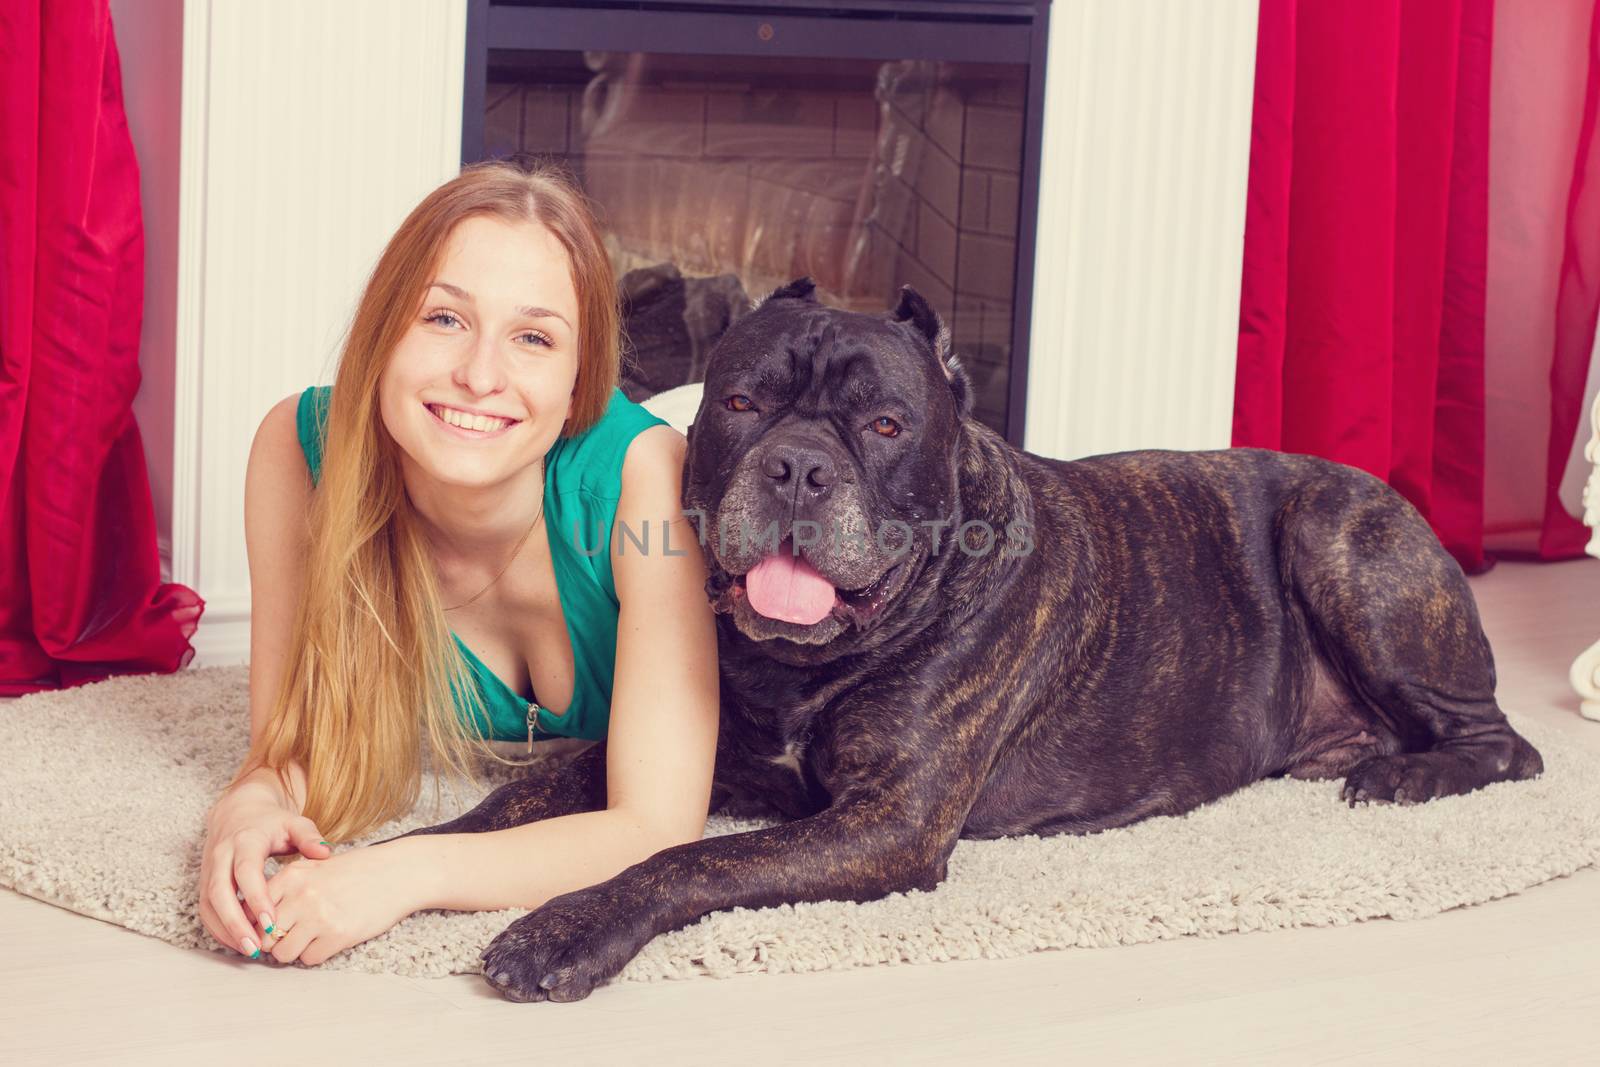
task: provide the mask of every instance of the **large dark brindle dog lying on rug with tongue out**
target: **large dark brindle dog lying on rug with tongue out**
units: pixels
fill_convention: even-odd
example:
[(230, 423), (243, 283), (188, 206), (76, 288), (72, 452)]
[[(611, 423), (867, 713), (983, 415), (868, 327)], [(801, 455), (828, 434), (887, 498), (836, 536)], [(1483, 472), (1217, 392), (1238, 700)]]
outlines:
[[(1461, 569), (1378, 478), (1258, 450), (1061, 462), (971, 403), (910, 288), (877, 317), (802, 278), (722, 338), (683, 474), (720, 613), (712, 806), (786, 821), (517, 920), (483, 953), (502, 995), (586, 997), (707, 912), (933, 889), (962, 837), (1282, 774), (1342, 776), (1354, 805), (1541, 773)], [(600, 744), (419, 832), (605, 803)]]

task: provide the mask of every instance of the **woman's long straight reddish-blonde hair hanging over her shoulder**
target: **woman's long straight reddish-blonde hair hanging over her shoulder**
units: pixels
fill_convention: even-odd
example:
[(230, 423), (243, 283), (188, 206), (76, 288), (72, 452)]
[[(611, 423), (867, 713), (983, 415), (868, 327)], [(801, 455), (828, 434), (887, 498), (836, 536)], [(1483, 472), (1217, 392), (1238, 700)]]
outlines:
[[(290, 760), (306, 769), (309, 816), (330, 841), (408, 813), (421, 737), (434, 766), (478, 782), (472, 755), (507, 763), (467, 731), (453, 693), (488, 715), (445, 624), (434, 560), (378, 408), (382, 374), (454, 227), (472, 216), (542, 222), (566, 250), (578, 293), (578, 381), (563, 437), (605, 413), (618, 384), (618, 298), (589, 202), (550, 163), (475, 163), (435, 189), (389, 240), (339, 358), (312, 496), (310, 545), (278, 696), (234, 784)], [(435, 793), (437, 798), (437, 793)]]

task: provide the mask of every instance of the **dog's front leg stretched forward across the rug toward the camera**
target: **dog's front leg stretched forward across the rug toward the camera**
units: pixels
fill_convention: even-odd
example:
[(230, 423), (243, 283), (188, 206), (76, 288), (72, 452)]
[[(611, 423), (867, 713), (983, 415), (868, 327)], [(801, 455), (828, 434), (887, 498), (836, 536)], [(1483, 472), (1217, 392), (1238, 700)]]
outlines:
[(518, 918), (483, 952), (483, 976), (507, 1000), (581, 1000), (651, 937), (709, 912), (930, 891), (960, 832), (941, 814), (870, 790), (795, 822), (675, 845)]

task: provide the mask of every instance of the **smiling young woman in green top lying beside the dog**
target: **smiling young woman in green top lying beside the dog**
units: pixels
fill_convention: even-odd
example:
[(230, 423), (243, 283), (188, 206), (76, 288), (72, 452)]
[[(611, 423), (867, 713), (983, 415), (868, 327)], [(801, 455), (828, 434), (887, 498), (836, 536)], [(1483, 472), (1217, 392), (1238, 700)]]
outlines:
[[(538, 907), (701, 837), (706, 565), (680, 514), (683, 435), (618, 389), (618, 328), (576, 187), (475, 165), (389, 242), (334, 384), (262, 419), (250, 752), (200, 870), (219, 942), (315, 965), (419, 909)], [(554, 734), (606, 739), (605, 809), (328, 846), (413, 808), (424, 737), (475, 779), (474, 749), (506, 761), (486, 741)], [(266, 881), (275, 854), (299, 862)]]

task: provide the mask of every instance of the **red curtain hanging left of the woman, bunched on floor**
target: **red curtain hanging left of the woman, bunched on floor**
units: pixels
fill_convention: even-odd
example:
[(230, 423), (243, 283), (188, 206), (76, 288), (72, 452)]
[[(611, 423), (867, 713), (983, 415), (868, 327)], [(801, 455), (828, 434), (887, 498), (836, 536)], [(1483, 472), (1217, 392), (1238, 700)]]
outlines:
[(133, 421), (142, 302), (106, 0), (0, 0), (0, 694), (194, 657)]

